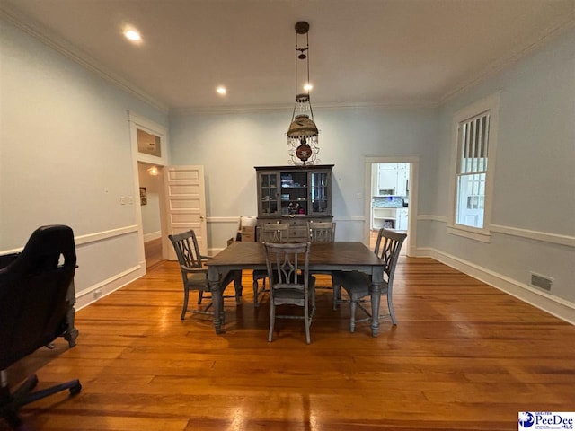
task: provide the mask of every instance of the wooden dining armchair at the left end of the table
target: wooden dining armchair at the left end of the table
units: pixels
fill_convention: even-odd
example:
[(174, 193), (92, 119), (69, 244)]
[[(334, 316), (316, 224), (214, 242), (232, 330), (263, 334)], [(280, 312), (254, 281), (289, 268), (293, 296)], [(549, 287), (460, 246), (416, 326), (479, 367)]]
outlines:
[[(180, 319), (183, 321), (188, 312), (188, 300), (190, 290), (198, 291), (198, 304), (201, 305), (205, 293), (210, 293), (208, 283), (208, 268), (204, 266), (204, 261), (211, 259), (211, 256), (201, 255), (199, 252), (198, 238), (193, 230), (182, 233), (168, 235), (172, 242), (173, 250), (178, 257), (180, 264), (181, 280), (183, 282), (183, 307)], [(191, 241), (191, 242), (190, 242)], [(220, 280), (220, 286), (225, 289), (227, 285), (234, 282), (235, 295), (224, 295), (224, 298), (235, 298), (235, 303), (240, 303), (242, 295), (242, 271), (229, 271)], [(203, 309), (194, 309), (190, 312), (197, 314), (214, 314), (209, 309), (212, 306), (211, 295), (207, 296), (210, 302)]]

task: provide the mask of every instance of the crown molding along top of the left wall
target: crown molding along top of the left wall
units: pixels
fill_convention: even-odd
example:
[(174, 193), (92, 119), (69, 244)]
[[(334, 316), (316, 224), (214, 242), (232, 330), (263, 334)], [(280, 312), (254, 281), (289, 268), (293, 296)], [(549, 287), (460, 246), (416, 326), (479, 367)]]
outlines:
[(102, 77), (102, 79), (108, 81), (116, 87), (119, 87), (120, 90), (128, 92), (128, 94), (131, 94), (141, 101), (145, 101), (147, 104), (153, 106), (157, 110), (160, 110), (166, 114), (169, 112), (168, 106), (163, 102), (158, 101), (150, 94), (137, 88), (136, 85), (129, 83), (126, 79), (115, 74), (107, 67), (102, 66), (102, 64), (96, 61), (93, 57), (90, 57), (84, 51), (76, 48), (67, 40), (60, 38), (52, 31), (49, 31), (49, 29), (40, 24), (40, 22), (32, 20), (29, 16), (16, 11), (7, 4), (0, 4), (0, 17), (7, 22), (13, 23), (13, 25), (18, 27), (20, 30), (26, 32), (34, 39), (39, 40), (44, 45), (53, 48), (58, 53), (68, 57), (80, 66), (83, 66), (96, 75)]

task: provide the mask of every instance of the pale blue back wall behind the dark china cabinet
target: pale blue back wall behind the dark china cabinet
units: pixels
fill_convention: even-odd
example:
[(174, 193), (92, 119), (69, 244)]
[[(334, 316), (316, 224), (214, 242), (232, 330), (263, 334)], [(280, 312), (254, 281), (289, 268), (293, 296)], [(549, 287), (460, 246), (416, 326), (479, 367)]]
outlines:
[[(314, 114), (320, 128), (318, 156), (321, 163), (335, 165), (338, 240), (363, 240), (364, 223), (369, 223), (363, 200), (368, 155), (420, 155), (427, 161), (420, 172), (420, 196), (425, 201), (435, 193), (436, 109), (314, 109)], [(171, 117), (172, 163), (205, 166), (208, 248), (225, 247), (234, 236), (237, 223), (226, 217), (257, 215), (253, 167), (288, 164), (290, 118), (290, 110)]]

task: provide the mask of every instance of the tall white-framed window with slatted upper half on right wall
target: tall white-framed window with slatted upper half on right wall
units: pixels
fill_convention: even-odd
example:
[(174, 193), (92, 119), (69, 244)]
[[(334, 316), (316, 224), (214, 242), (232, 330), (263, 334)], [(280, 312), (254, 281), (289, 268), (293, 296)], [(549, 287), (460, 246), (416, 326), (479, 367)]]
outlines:
[(459, 111), (454, 118), (455, 193), (450, 232), (489, 241), (491, 172), (499, 97)]

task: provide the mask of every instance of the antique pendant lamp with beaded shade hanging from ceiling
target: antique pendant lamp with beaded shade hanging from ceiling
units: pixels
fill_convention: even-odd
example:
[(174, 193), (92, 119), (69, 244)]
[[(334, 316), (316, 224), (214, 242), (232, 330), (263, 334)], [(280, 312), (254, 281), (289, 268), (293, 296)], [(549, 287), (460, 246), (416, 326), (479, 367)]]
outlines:
[[(289, 163), (296, 165), (310, 165), (320, 163), (317, 154), (320, 149), (317, 145), (319, 131), (315, 126), (314, 111), (309, 98), (311, 89), (309, 81), (309, 24), (305, 21), (296, 23), (296, 105), (288, 128), (288, 154), (291, 158)], [(305, 47), (300, 44), (300, 37), (304, 39)], [(303, 86), (305, 92), (300, 91), (302, 79), (298, 75), (302, 73), (302, 67), (297, 67), (300, 61), (305, 61), (306, 81)]]

